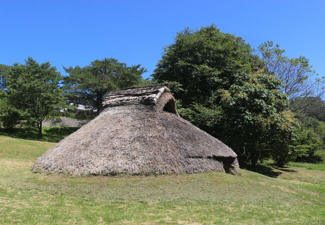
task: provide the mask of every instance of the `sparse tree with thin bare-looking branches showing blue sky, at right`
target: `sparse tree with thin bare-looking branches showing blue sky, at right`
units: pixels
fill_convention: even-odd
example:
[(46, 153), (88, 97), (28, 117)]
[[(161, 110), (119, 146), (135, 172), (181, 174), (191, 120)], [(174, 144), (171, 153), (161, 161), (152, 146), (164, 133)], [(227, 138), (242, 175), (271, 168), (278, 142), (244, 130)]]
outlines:
[(316, 77), (317, 74), (306, 57), (289, 58), (284, 55), (284, 49), (278, 44), (274, 46), (272, 41), (260, 44), (258, 51), (268, 72), (283, 81), (280, 89), (290, 100), (289, 108), (293, 112), (304, 109), (313, 99), (324, 95), (325, 78)]

